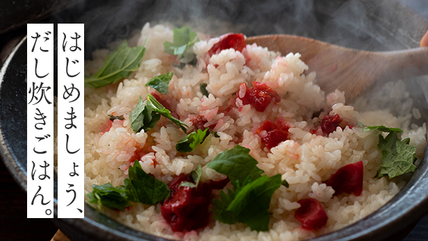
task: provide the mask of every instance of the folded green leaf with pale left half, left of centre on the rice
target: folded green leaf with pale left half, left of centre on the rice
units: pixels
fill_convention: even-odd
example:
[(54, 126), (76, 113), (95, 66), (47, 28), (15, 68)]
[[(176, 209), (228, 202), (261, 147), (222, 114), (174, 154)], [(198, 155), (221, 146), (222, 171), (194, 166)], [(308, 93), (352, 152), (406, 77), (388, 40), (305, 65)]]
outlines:
[(156, 126), (161, 115), (153, 111), (151, 106), (147, 106), (147, 101), (138, 99), (135, 108), (129, 113), (129, 123), (135, 133), (139, 133), (143, 128), (145, 131)]

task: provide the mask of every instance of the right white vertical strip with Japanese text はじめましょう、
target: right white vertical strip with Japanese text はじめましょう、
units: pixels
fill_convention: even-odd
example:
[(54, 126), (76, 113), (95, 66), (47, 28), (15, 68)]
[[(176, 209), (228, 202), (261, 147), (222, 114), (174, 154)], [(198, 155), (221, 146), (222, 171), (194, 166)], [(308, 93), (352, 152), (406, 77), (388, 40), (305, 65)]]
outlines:
[(58, 217), (84, 213), (83, 24), (58, 24)]

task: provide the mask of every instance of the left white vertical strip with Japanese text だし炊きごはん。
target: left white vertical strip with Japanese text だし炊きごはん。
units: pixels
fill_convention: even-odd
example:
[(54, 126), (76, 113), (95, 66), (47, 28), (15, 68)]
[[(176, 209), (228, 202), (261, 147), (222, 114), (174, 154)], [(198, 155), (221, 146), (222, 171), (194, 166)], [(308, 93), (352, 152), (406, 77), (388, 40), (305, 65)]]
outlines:
[(27, 217), (52, 218), (53, 24), (27, 24), (26, 42)]

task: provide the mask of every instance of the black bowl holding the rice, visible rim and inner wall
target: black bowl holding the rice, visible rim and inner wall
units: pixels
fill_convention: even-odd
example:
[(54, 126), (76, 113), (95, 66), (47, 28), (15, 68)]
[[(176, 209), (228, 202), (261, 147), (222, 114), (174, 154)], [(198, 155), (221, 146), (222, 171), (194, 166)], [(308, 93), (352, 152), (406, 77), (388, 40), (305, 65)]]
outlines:
[[(247, 36), (288, 33), (372, 51), (417, 47), (428, 29), (424, 18), (390, 0), (88, 1), (46, 21), (85, 23), (86, 58), (94, 49), (127, 37), (147, 21), (184, 21), (191, 26), (208, 22), (217, 33), (233, 26), (233, 31)], [(21, 36), (11, 40), (0, 58), (4, 63), (0, 72), (0, 153), (26, 190), (26, 39)], [(374, 87), (374, 92), (363, 98), (370, 99), (379, 88)], [(406, 90), (412, 93), (413, 105), (422, 114), (421, 119), (413, 121), (419, 125), (427, 122), (428, 78), (406, 80)], [(385, 105), (388, 107), (388, 103)], [(427, 211), (425, 156), (409, 183), (385, 206), (351, 226), (313, 240), (397, 240)], [(165, 240), (135, 231), (88, 205), (84, 219), (55, 218), (53, 222), (73, 240)]]

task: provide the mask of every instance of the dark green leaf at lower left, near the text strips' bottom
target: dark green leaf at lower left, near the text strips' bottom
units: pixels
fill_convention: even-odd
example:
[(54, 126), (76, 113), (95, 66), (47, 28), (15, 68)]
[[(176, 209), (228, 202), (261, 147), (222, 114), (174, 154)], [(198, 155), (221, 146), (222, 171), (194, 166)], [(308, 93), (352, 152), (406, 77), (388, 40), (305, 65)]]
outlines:
[(106, 206), (110, 209), (124, 210), (129, 206), (129, 201), (126, 197), (126, 190), (123, 185), (117, 188), (113, 187), (111, 183), (103, 185), (92, 185), (92, 192), (86, 194), (89, 197), (90, 203), (98, 203), (98, 209), (101, 210), (101, 206)]

